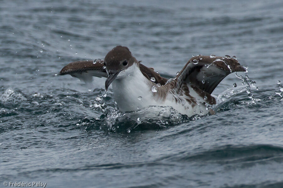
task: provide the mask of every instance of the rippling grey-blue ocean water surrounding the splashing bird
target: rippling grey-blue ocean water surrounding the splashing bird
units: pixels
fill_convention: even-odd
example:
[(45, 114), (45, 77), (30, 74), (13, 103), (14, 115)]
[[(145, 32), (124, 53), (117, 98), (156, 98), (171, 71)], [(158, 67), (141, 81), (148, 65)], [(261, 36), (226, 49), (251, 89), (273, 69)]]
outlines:
[[(282, 8), (280, 0), (0, 0), (0, 187), (283, 187)], [(120, 113), (111, 89), (101, 96), (103, 78), (87, 87), (58, 75), (116, 45), (165, 77), (194, 54), (235, 55), (256, 81), (253, 100), (233, 73), (213, 92), (215, 115)]]

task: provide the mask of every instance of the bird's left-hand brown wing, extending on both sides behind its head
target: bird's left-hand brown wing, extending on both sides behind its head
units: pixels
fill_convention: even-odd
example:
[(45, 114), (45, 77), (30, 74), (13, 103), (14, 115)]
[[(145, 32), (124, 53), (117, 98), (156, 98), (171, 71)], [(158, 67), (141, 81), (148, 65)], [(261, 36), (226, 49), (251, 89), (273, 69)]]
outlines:
[[(140, 63), (140, 70), (142, 74), (156, 84), (164, 85), (168, 79), (161, 77), (157, 72), (154, 72), (153, 68), (148, 68)], [(96, 77), (108, 77), (105, 69), (104, 60), (94, 60), (94, 61), (75, 61), (64, 66), (60, 71), (59, 75), (69, 74), (73, 77), (79, 78), (85, 82), (92, 80), (92, 76)]]

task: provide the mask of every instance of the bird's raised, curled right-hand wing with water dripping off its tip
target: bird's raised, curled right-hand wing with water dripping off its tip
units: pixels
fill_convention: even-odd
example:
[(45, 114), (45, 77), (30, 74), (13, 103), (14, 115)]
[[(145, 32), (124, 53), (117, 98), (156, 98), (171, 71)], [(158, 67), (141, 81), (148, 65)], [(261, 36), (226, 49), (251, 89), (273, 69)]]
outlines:
[(245, 69), (234, 58), (199, 55), (192, 57), (165, 87), (174, 93), (181, 93), (184, 84), (190, 84), (200, 97), (206, 96), (205, 101), (214, 104), (215, 99), (210, 95), (212, 91), (227, 75), (238, 71)]

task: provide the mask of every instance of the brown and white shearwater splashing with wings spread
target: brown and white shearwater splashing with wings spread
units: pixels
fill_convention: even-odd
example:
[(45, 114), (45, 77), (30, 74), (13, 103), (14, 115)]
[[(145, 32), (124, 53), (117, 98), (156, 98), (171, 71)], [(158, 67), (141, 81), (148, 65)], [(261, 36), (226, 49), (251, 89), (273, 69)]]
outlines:
[(125, 46), (116, 46), (104, 60), (76, 61), (64, 66), (60, 75), (70, 74), (90, 80), (106, 77), (105, 89), (112, 83), (114, 99), (121, 112), (154, 106), (171, 106), (192, 116), (212, 112), (216, 104), (212, 91), (227, 75), (245, 71), (234, 57), (196, 55), (175, 78), (161, 77), (153, 68), (141, 64)]

